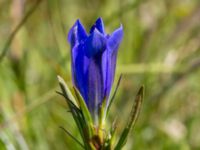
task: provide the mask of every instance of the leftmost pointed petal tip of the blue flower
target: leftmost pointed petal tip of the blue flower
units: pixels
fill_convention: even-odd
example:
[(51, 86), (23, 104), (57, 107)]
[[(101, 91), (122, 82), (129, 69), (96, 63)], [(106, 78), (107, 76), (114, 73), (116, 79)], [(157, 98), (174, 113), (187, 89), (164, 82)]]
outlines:
[(79, 20), (75, 22), (73, 27), (68, 33), (68, 41), (73, 48), (76, 44), (79, 44), (81, 41), (87, 38), (87, 32)]

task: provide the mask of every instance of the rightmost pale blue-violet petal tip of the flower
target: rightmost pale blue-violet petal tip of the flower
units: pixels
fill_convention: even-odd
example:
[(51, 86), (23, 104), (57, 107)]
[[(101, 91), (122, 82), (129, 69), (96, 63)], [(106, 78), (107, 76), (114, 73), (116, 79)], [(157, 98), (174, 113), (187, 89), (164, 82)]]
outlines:
[(123, 27), (122, 25), (115, 30), (108, 38), (108, 47), (110, 50), (115, 51), (118, 49), (119, 44), (123, 38)]

